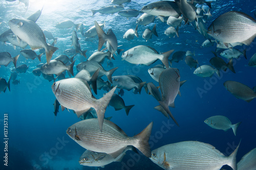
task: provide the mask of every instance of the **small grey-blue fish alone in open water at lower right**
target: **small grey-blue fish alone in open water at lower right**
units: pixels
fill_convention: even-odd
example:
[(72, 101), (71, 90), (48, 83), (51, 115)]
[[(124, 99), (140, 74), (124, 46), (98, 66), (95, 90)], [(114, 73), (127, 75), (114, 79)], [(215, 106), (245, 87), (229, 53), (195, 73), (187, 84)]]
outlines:
[(226, 116), (211, 116), (204, 120), (204, 123), (211, 128), (221, 129), (225, 132), (229, 129), (233, 130), (234, 136), (237, 136), (237, 129), (240, 126), (241, 122), (232, 125), (230, 120)]

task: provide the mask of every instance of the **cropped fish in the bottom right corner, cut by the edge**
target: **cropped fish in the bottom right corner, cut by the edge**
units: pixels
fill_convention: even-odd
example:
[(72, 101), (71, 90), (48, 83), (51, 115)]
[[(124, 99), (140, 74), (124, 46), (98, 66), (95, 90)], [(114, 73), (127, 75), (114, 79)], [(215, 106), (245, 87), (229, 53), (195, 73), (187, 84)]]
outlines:
[(238, 170), (253, 170), (256, 168), (256, 148), (245, 154), (238, 162)]

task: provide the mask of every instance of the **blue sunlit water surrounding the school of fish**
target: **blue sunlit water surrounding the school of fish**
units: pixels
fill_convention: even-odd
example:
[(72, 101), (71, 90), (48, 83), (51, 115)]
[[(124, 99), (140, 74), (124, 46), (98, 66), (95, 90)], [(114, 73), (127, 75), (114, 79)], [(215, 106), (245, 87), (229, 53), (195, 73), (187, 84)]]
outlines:
[[(144, 5), (154, 1), (132, 1), (124, 4), (125, 9), (140, 10)], [(84, 32), (94, 26), (94, 20), (103, 23), (105, 20), (106, 26), (103, 29), (107, 31), (112, 29), (118, 39), (118, 45), (122, 45), (125, 51), (136, 45), (149, 45), (155, 48), (158, 52), (166, 52), (169, 50), (176, 51), (191, 51), (196, 54), (200, 65), (210, 64), (210, 58), (214, 57), (211, 51), (215, 51), (216, 44), (210, 47), (202, 47), (201, 44), (205, 38), (199, 34), (190, 25), (182, 23), (179, 29), (180, 37), (169, 38), (164, 35), (164, 31), (168, 28), (166, 23), (155, 20), (147, 26), (139, 26), (139, 38), (127, 41), (122, 38), (123, 34), (128, 29), (135, 29), (137, 18), (130, 18), (116, 14), (95, 14), (92, 17), (91, 9), (99, 9), (100, 7), (111, 5), (109, 1), (31, 1), (28, 10), (23, 3), (0, 1), (0, 33), (9, 29), (8, 21), (15, 17), (27, 18), (35, 11), (40, 10), (43, 6), (42, 14), (37, 20), (37, 25), (41, 29), (50, 31), (54, 37), (58, 37), (56, 46), (59, 48), (53, 58), (62, 54), (68, 48), (72, 48), (71, 35), (74, 28), (57, 29), (54, 26), (56, 23), (63, 20), (72, 20), (74, 23), (83, 23)], [(231, 11), (242, 11), (254, 17), (256, 2), (254, 0), (228, 1), (217, 0), (212, 2), (212, 17), (210, 17), (205, 27), (208, 28), (210, 23), (219, 15)], [(201, 7), (201, 6), (198, 6)], [(206, 5), (204, 8), (207, 9)], [(150, 41), (145, 41), (142, 38), (142, 33), (145, 28), (152, 29), (154, 24), (157, 24), (157, 32), (159, 37), (152, 36)], [(98, 39), (91, 41), (84, 40), (84, 37), (78, 32), (81, 48), (88, 50), (89, 57), (97, 50)], [(49, 43), (52, 40), (47, 40)], [(28, 49), (28, 47), (26, 47)], [(239, 50), (241, 50), (241, 46)], [(180, 88), (181, 96), (177, 96), (175, 100), (175, 108), (170, 108), (170, 111), (175, 116), (180, 127), (177, 127), (172, 119), (167, 119), (154, 109), (159, 105), (153, 96), (148, 95), (144, 88), (141, 94), (134, 94), (131, 91), (124, 90), (122, 96), (125, 105), (135, 105), (129, 116), (126, 116), (125, 111), (115, 111), (113, 107), (108, 107), (105, 112), (105, 117), (113, 116), (112, 122), (121, 127), (129, 136), (133, 136), (142, 131), (150, 122), (154, 122), (152, 136), (150, 139), (151, 149), (154, 150), (162, 145), (175, 143), (186, 140), (197, 140), (205, 143), (210, 143), (225, 155), (230, 155), (234, 148), (237, 147), (241, 140), (241, 145), (238, 151), (237, 160), (239, 161), (243, 155), (256, 147), (256, 129), (255, 129), (255, 105), (256, 100), (247, 103), (243, 100), (236, 99), (223, 86), (227, 80), (238, 81), (249, 87), (256, 85), (255, 74), (256, 70), (248, 66), (249, 58), (256, 53), (255, 42), (252, 42), (247, 48), (247, 60), (241, 57), (234, 60), (234, 69), (236, 74), (228, 71), (222, 74), (221, 78), (214, 75), (212, 78), (201, 78), (193, 74), (194, 68), (190, 69), (186, 63), (180, 61), (173, 63), (173, 67), (180, 70), (181, 80), (187, 82)], [(9, 52), (12, 57), (19, 54), (22, 48), (17, 47), (14, 50), (10, 43), (1, 43), (0, 52)], [(36, 51), (39, 54), (38, 51)], [(172, 55), (171, 55), (172, 56)], [(77, 65), (83, 59), (79, 54), (75, 57), (78, 60)], [(115, 56), (116, 60), (112, 60), (114, 67), (119, 68), (114, 72), (113, 76), (118, 75), (136, 75), (142, 81), (153, 82), (158, 86), (147, 72), (151, 66), (133, 65), (121, 59), (121, 56)], [(226, 60), (225, 60), (226, 61)], [(42, 56), (42, 62), (46, 62), (45, 55)], [(55, 96), (52, 92), (49, 82), (42, 77), (36, 77), (32, 74), (32, 70), (39, 63), (38, 59), (26, 60), (20, 55), (17, 66), (27, 64), (29, 69), (26, 73), (19, 74), (17, 79), (20, 84), (13, 85), (11, 83), (11, 91), (1, 92), (1, 117), (0, 117), (0, 133), (1, 135), (1, 169), (102, 169), (101, 167), (82, 166), (78, 163), (79, 157), (84, 152), (75, 141), (67, 134), (68, 127), (78, 122), (80, 119), (71, 111), (61, 111), (54, 117), (53, 103)], [(0, 67), (0, 77), (6, 80), (10, 77), (10, 71), (14, 67), (10, 63), (7, 67)], [(106, 70), (106, 61), (103, 63)], [(75, 68), (74, 68), (75, 71)], [(76, 72), (76, 71), (75, 71)], [(106, 77), (103, 77), (106, 80)], [(207, 86), (208, 85), (208, 86)], [(201, 95), (198, 89), (205, 89), (206, 92)], [(116, 91), (117, 92), (117, 91)], [(103, 90), (98, 90), (96, 98), (101, 98)], [(4, 165), (4, 113), (8, 113), (8, 167)], [(227, 116), (232, 124), (242, 122), (237, 131), (237, 136), (234, 136), (232, 130), (224, 132), (208, 127), (204, 120), (210, 116), (224, 115)], [(168, 129), (166, 128), (167, 126)], [(166, 129), (165, 129), (166, 128)], [(163, 130), (164, 129), (164, 130)], [(230, 167), (225, 166), (226, 169)], [(122, 162), (113, 162), (106, 165), (104, 169), (162, 169), (150, 159), (141, 155), (138, 156), (133, 152), (127, 152)]]

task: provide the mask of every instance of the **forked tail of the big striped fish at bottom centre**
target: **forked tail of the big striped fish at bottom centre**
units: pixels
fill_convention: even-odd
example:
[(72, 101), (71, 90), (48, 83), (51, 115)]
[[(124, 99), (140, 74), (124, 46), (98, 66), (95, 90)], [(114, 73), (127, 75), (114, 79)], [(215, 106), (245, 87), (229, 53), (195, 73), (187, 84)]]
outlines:
[(134, 136), (134, 138), (138, 139), (138, 142), (134, 144), (134, 147), (148, 158), (151, 157), (150, 144), (148, 143), (148, 140), (150, 139), (152, 127), (153, 122), (147, 125), (147, 127), (139, 134)]

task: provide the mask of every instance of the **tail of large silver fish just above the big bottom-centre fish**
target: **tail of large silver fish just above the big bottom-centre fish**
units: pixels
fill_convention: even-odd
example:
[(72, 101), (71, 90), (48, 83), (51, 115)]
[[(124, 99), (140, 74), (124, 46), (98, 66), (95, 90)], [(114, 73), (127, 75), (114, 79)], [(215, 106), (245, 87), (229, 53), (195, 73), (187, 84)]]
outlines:
[(114, 87), (112, 90), (110, 90), (108, 93), (106, 93), (102, 98), (97, 100), (97, 106), (94, 108), (97, 113), (100, 131), (102, 131), (102, 125), (103, 125), (106, 107), (109, 105), (112, 95), (114, 94), (114, 92), (116, 90), (116, 87)]

